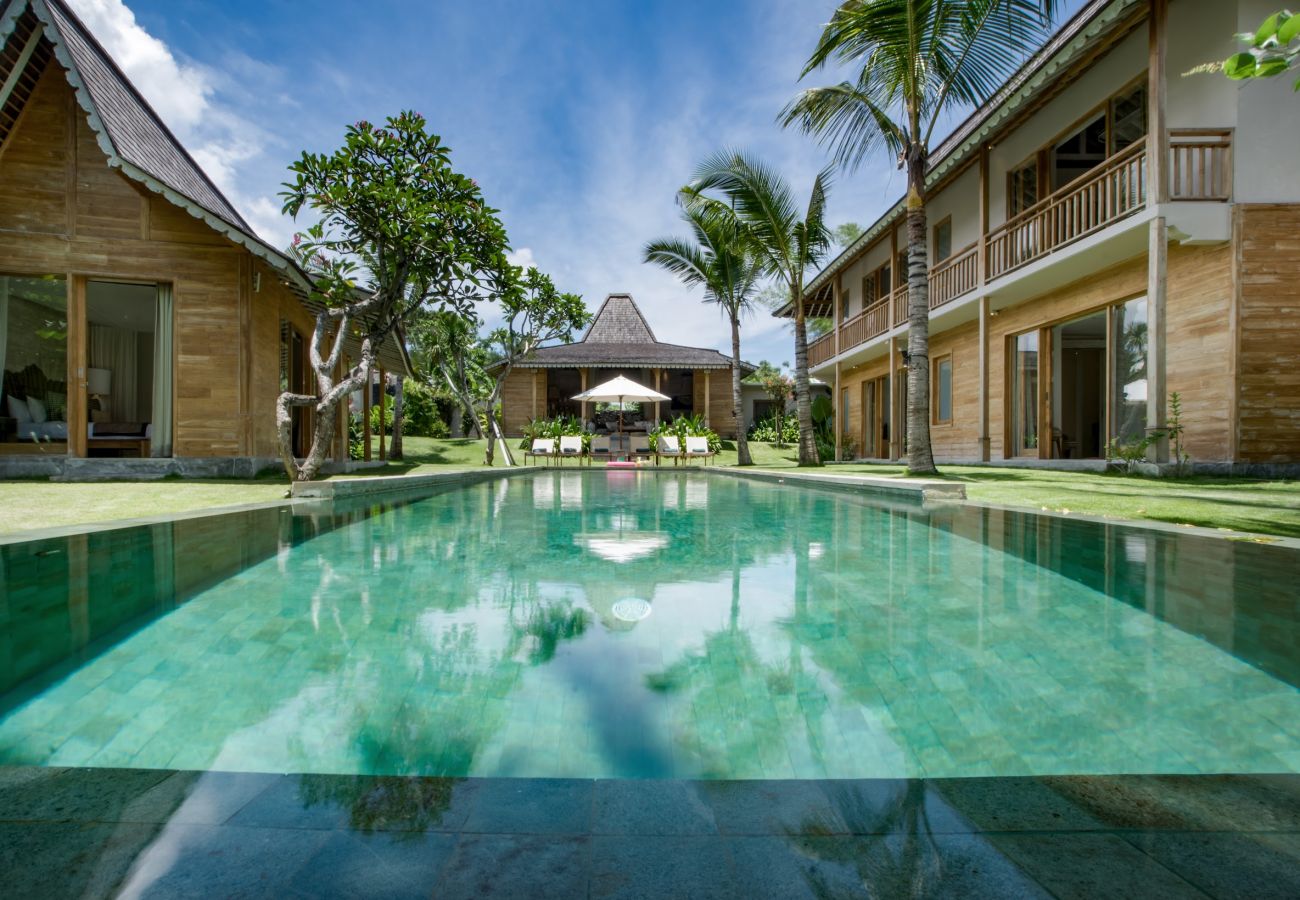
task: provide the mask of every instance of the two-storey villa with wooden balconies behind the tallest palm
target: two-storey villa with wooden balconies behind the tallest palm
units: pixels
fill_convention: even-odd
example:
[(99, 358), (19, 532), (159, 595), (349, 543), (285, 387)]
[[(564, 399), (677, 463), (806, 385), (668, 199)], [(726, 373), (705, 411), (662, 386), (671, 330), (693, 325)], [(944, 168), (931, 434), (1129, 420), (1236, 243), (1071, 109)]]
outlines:
[(922, 364), (940, 462), (1098, 459), (1178, 391), (1195, 462), (1300, 463), (1295, 79), (1183, 74), (1274, 10), (1089, 0), (935, 148), (930, 359), (905, 354), (902, 200), (809, 282), (841, 457), (904, 455)]

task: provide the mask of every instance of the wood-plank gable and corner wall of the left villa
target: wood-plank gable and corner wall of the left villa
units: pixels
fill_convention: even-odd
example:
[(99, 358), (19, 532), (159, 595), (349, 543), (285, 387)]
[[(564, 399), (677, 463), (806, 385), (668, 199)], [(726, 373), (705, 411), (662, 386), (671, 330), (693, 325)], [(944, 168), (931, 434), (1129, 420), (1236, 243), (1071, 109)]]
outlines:
[(280, 319), (309, 334), (311, 316), (247, 250), (112, 169), (57, 65), (0, 151), (0, 271), (170, 282), (176, 455), (274, 455)]

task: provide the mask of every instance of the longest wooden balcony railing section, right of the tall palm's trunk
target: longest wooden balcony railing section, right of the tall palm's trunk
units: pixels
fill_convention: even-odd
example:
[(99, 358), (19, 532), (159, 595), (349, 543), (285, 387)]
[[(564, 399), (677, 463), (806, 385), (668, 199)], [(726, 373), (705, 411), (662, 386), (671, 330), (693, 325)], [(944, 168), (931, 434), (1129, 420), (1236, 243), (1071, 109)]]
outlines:
[(1147, 202), (1147, 143), (1139, 140), (988, 234), (997, 278), (1128, 216)]

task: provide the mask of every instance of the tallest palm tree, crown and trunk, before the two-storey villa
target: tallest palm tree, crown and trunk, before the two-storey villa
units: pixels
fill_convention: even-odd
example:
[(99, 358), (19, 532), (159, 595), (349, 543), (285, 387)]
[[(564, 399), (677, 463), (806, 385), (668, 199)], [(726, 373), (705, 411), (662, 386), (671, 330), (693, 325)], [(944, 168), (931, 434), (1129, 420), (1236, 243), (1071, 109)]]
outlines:
[[(926, 169), (935, 127), (984, 103), (1044, 40), (1056, 0), (848, 0), (803, 66), (862, 62), (855, 82), (814, 87), (781, 113), (854, 168), (880, 147), (907, 169), (907, 471), (933, 473), (930, 447), (930, 267)], [(801, 77), (802, 77), (801, 75)]]

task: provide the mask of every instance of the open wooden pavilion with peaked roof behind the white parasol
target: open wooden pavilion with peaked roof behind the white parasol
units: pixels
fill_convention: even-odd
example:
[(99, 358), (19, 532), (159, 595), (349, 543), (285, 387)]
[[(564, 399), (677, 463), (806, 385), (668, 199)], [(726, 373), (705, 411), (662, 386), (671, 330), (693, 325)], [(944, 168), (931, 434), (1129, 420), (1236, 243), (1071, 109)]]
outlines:
[[(745, 363), (742, 371), (754, 367)], [(593, 421), (595, 404), (573, 397), (620, 375), (671, 398), (646, 404), (638, 419), (625, 416), (633, 430), (699, 415), (723, 437), (736, 437), (731, 358), (655, 339), (630, 294), (604, 298), (581, 341), (541, 347), (515, 365), (502, 390), (502, 428), (519, 436), (533, 419)]]

